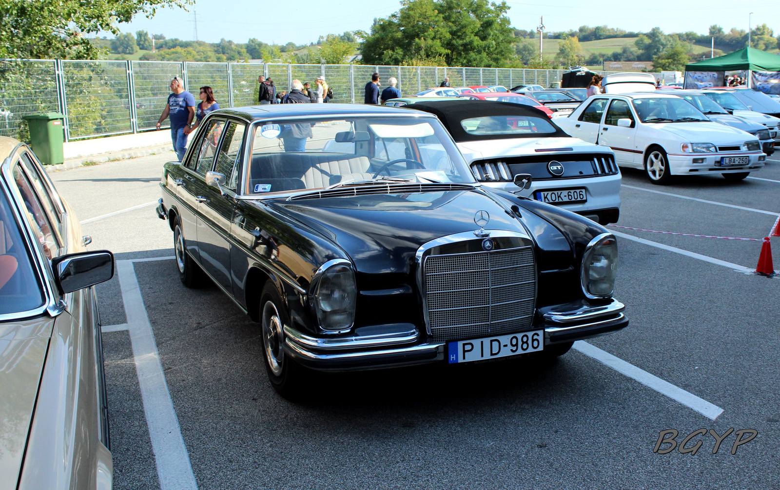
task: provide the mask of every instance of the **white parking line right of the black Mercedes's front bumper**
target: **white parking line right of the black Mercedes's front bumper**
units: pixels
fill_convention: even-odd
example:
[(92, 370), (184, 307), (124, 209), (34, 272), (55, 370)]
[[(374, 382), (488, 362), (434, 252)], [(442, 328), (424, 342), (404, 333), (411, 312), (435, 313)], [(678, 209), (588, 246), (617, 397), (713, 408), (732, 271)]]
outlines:
[(639, 367), (636, 367), (633, 364), (620, 359), (619, 357), (615, 357), (611, 353), (608, 353), (605, 350), (601, 350), (597, 346), (587, 343), (584, 340), (576, 341), (574, 343), (574, 349), (579, 350), (588, 357), (593, 357), (601, 364), (612, 367), (612, 369), (618, 371), (622, 375), (636, 379), (636, 381), (642, 383), (648, 388), (654, 389), (655, 391), (661, 393), (661, 395), (668, 396), (669, 398), (674, 399), (679, 403), (683, 403), (683, 405), (686, 407), (696, 410), (711, 421), (714, 421), (716, 418), (718, 418), (718, 415), (723, 413), (723, 409), (721, 407), (717, 407), (707, 400), (693, 395), (693, 393), (686, 392), (686, 390), (672, 385), (672, 383), (664, 381), (663, 379), (658, 378), (658, 376), (651, 375), (647, 371), (644, 371), (643, 369), (640, 369)]

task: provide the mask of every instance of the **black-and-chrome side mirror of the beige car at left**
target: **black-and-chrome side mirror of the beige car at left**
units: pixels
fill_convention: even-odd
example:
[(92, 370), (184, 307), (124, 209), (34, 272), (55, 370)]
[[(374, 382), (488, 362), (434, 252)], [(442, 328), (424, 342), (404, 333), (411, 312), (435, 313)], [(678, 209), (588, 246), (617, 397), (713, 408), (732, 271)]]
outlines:
[(52, 259), (51, 268), (59, 292), (73, 293), (114, 277), (114, 254), (108, 250), (67, 254)]

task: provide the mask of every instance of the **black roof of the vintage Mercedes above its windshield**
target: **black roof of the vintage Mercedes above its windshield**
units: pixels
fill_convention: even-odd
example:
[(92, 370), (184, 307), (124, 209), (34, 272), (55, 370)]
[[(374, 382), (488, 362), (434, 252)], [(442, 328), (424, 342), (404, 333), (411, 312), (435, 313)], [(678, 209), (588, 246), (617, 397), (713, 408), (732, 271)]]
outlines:
[(321, 117), (325, 115), (409, 115), (404, 109), (367, 104), (274, 104), (218, 109), (211, 115), (232, 115), (241, 119), (277, 119), (286, 117)]

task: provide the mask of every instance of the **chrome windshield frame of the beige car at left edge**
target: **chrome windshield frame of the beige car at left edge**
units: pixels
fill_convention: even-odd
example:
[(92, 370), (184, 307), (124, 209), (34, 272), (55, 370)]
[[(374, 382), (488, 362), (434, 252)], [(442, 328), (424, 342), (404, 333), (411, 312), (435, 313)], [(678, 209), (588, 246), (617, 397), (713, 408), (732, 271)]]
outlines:
[(42, 286), (44, 292), (44, 304), (29, 311), (20, 311), (11, 314), (0, 314), (0, 321), (18, 320), (20, 318), (33, 318), (48, 312), (52, 317), (65, 310), (65, 304), (62, 303), (62, 296), (57, 291), (57, 286), (54, 280), (54, 272), (51, 269), (51, 261), (44, 256), (41, 247), (38, 247), (33, 242), (32, 236), (34, 231), (30, 229), (30, 223), (27, 222), (20, 209), (20, 203), (23, 197), (16, 189), (16, 186), (9, 185), (9, 182), (13, 180), (12, 164), (9, 159), (0, 165), (0, 173), (2, 173), (3, 179), (0, 182), (0, 192), (5, 194), (9, 204), (11, 204), (12, 218), (16, 221), (17, 225), (20, 225), (20, 235), (24, 242), (24, 246), (27, 249), (27, 253), (30, 254), (33, 262), (33, 268), (38, 281), (38, 286)]

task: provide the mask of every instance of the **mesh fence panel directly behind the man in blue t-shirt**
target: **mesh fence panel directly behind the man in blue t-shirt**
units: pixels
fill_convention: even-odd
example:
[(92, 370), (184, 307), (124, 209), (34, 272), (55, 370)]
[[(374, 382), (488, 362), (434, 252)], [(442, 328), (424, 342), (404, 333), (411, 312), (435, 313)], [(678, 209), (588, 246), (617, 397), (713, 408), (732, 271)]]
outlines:
[(153, 130), (168, 103), (172, 78), (183, 74), (182, 63), (133, 62), (132, 66), (137, 129)]

